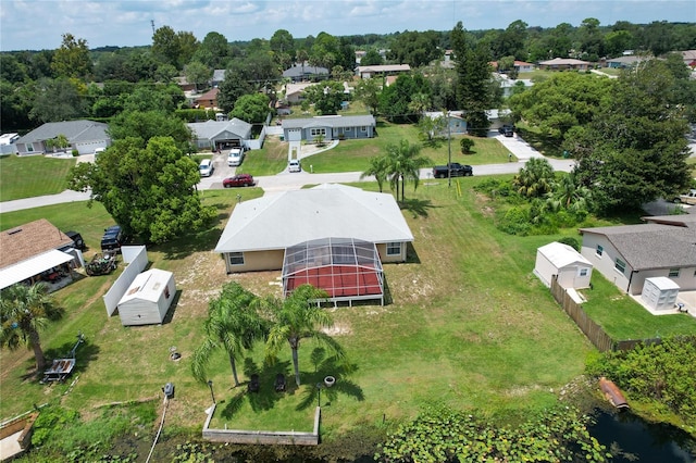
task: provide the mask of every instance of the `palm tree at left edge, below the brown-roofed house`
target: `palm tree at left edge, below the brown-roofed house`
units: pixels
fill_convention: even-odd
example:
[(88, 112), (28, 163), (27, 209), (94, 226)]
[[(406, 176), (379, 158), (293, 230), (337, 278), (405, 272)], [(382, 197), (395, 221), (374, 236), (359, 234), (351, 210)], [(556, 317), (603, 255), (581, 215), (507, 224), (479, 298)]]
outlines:
[(60, 320), (64, 309), (48, 295), (48, 286), (16, 284), (0, 292), (0, 346), (15, 350), (24, 345), (34, 350), (36, 371), (46, 367), (39, 331), (50, 321)]

